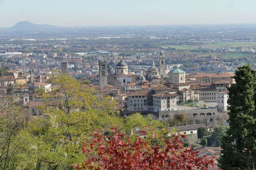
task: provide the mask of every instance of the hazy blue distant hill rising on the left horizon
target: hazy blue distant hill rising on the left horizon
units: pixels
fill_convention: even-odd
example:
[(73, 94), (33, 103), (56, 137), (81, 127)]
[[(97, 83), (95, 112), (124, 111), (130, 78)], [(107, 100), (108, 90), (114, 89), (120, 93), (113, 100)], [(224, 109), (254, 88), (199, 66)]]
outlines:
[(57, 26), (52, 26), (52, 25), (47, 25), (47, 24), (34, 24), (34, 23), (30, 23), (29, 21), (21, 21), (18, 22), (17, 24), (15, 24), (15, 26), (13, 26), (10, 29), (13, 30), (37, 30), (37, 29), (54, 29), (54, 28), (58, 28)]

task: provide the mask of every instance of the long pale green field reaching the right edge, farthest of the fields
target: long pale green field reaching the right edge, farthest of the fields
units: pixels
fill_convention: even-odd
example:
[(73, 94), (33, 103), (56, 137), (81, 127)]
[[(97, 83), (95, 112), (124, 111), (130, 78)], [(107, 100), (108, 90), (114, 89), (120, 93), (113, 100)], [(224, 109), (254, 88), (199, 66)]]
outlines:
[(256, 47), (256, 42), (205, 42), (205, 47), (208, 47), (208, 48)]

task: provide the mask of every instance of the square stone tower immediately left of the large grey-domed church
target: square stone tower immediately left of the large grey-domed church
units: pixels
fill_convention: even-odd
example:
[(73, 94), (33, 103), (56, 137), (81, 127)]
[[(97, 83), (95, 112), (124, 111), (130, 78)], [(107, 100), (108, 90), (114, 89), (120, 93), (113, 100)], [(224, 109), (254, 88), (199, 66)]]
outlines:
[(99, 61), (99, 85), (103, 88), (108, 85), (108, 66), (107, 61)]

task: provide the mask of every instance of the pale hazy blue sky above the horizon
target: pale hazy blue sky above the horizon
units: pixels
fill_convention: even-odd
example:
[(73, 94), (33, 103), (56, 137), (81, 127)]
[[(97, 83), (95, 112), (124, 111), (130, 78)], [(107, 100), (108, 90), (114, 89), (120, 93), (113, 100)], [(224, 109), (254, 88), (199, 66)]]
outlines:
[(256, 0), (0, 0), (0, 27), (256, 23)]

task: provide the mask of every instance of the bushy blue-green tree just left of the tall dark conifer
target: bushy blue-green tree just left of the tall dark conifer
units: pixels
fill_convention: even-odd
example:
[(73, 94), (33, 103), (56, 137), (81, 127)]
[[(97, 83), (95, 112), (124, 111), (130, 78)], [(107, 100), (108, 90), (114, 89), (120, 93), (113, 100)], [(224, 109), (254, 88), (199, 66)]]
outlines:
[(222, 136), (227, 135), (226, 126), (216, 126), (213, 128), (212, 135), (208, 137), (207, 143), (209, 146), (219, 147), (221, 146)]

